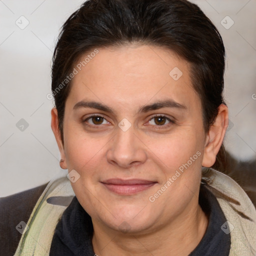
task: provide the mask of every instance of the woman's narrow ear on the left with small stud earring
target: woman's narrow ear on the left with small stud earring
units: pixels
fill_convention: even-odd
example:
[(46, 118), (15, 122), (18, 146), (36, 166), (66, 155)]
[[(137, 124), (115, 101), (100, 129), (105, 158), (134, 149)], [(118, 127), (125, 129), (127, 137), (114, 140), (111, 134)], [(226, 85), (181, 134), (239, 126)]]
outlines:
[(65, 152), (64, 152), (64, 146), (61, 140), (61, 133), (60, 130), (58, 128), (58, 112), (57, 109), (55, 107), (53, 107), (51, 109), (51, 129), (54, 133), (55, 139), (57, 141), (58, 144), (58, 150), (60, 152), (60, 157), (63, 161), (59, 162), (59, 165), (62, 169), (66, 169), (66, 157), (65, 157)]

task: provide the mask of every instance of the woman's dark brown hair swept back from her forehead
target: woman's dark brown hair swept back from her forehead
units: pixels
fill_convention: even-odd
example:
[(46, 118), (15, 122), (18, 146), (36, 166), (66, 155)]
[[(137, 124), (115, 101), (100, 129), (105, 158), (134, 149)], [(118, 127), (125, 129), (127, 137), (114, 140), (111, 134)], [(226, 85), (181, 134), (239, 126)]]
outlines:
[[(225, 50), (222, 38), (201, 9), (187, 0), (87, 0), (63, 24), (53, 54), (52, 92), (72, 71), (82, 54), (99, 47), (129, 43), (170, 49), (190, 63), (190, 77), (198, 93), (205, 133), (224, 103)], [(54, 93), (59, 130), (63, 141), (68, 82)], [(225, 150), (221, 146), (215, 169), (223, 171)]]

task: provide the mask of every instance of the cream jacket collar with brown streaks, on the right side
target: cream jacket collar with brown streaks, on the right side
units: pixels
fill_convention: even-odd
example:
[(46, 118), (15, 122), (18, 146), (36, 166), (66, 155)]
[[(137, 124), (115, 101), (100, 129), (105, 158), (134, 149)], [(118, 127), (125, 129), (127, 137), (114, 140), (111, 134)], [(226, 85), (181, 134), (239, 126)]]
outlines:
[(219, 171), (212, 169), (208, 181), (207, 188), (217, 198), (227, 220), (223, 226), (231, 235), (230, 252), (235, 255), (254, 255), (256, 209), (252, 201), (238, 183)]

